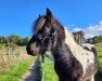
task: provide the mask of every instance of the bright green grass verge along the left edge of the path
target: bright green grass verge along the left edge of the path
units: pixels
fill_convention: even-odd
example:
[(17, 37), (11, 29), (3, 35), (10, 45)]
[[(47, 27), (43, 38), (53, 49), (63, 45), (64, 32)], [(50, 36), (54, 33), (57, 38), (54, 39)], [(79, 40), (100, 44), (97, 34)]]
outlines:
[(34, 57), (28, 57), (18, 64), (15, 64), (0, 73), (0, 81), (18, 81), (27, 68), (34, 63)]

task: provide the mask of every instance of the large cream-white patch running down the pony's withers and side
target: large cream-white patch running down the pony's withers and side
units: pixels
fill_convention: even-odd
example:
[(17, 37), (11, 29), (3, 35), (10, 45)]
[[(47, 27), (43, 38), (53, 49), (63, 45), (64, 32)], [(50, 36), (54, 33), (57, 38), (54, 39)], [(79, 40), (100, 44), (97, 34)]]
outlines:
[[(65, 43), (69, 46), (73, 55), (79, 60), (82, 66), (84, 75), (86, 75), (87, 68), (89, 65), (94, 63), (94, 55), (92, 52), (82, 49), (77, 44), (73, 36), (65, 29)], [(89, 60), (89, 62), (88, 62)]]

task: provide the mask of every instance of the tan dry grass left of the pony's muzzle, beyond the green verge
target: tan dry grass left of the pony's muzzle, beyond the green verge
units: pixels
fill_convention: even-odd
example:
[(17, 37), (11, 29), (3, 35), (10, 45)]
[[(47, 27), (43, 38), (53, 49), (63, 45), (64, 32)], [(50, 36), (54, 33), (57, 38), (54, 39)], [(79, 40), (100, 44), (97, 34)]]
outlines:
[(25, 46), (16, 46), (13, 52), (8, 54), (8, 48), (4, 48), (4, 51), (0, 49), (0, 72), (4, 71), (7, 68), (20, 63), (23, 59), (29, 57), (26, 54)]

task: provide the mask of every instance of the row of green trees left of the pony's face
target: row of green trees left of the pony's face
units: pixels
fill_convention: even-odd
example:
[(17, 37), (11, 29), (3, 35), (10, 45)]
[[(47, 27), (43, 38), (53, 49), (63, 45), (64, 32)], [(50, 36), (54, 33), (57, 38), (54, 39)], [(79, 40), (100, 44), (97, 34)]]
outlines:
[(9, 37), (0, 36), (0, 43), (1, 44), (13, 43), (16, 45), (27, 45), (29, 40), (30, 40), (30, 37), (23, 38), (18, 35), (11, 35)]

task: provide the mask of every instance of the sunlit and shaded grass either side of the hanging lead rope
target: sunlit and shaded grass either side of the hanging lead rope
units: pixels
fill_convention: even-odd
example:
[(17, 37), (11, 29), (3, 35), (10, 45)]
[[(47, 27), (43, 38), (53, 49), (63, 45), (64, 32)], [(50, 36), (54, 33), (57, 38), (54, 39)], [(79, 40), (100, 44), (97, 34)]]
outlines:
[[(44, 64), (43, 64), (43, 81), (59, 81), (59, 78), (54, 71), (54, 64), (52, 60), (50, 60), (48, 57), (46, 57)], [(39, 59), (39, 65), (37, 66), (37, 79), (36, 81), (41, 80), (41, 57)]]

